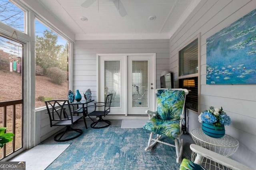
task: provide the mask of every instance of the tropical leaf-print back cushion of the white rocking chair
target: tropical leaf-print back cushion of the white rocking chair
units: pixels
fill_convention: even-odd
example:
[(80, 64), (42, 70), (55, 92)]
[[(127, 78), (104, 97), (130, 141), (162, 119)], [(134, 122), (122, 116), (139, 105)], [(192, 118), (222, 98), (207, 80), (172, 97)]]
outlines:
[(179, 120), (184, 112), (186, 89), (156, 89), (158, 117), (162, 120)]

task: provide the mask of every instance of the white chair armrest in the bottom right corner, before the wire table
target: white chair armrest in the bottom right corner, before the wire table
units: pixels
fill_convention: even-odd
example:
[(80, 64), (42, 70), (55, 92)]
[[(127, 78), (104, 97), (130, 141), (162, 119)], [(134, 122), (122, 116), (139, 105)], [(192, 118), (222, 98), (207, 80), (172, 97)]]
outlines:
[(196, 164), (201, 164), (202, 158), (205, 157), (223, 166), (231, 168), (232, 170), (253, 170), (252, 168), (249, 168), (239, 162), (236, 162), (235, 160), (232, 160), (226, 156), (220, 155), (216, 152), (205, 149), (198, 145), (191, 144), (190, 149), (197, 154), (196, 159), (194, 161), (194, 163)]

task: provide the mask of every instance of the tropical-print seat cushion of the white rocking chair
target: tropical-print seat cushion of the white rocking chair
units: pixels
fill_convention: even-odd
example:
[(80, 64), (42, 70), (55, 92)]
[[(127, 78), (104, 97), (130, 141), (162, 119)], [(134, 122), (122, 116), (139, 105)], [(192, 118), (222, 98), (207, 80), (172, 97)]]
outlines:
[(143, 128), (156, 134), (176, 139), (180, 133), (180, 120), (162, 120), (152, 117)]

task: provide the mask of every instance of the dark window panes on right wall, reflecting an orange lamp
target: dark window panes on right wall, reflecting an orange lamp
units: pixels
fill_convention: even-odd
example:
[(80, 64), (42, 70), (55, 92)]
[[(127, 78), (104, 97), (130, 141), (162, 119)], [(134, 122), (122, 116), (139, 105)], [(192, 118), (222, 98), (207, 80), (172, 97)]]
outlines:
[(198, 112), (198, 38), (179, 51), (179, 88), (189, 91), (186, 108)]

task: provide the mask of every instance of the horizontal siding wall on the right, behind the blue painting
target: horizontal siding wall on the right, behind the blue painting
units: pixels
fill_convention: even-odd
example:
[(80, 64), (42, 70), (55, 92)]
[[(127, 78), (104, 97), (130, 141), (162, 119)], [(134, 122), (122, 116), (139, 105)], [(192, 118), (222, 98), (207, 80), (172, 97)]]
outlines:
[[(235, 160), (256, 167), (256, 85), (206, 84), (206, 39), (256, 8), (256, 0), (202, 0), (170, 38), (170, 70), (178, 81), (178, 49), (200, 33), (200, 111), (223, 107), (232, 123), (226, 134), (240, 142)], [(188, 131), (200, 127), (198, 114), (188, 112)]]

